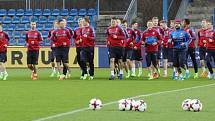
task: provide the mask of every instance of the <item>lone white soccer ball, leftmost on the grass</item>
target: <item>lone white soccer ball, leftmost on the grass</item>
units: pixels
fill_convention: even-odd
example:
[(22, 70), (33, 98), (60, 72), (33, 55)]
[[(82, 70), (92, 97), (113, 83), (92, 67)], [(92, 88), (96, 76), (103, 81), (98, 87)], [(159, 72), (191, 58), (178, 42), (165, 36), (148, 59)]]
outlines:
[(91, 99), (89, 103), (89, 109), (91, 110), (99, 110), (102, 108), (102, 101), (100, 99)]

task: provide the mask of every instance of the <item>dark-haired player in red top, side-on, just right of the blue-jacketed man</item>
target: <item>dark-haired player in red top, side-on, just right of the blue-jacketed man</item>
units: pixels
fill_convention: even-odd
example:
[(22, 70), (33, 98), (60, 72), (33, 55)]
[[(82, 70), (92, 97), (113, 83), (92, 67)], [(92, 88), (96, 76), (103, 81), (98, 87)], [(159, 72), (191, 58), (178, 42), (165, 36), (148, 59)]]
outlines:
[[(188, 33), (190, 36), (190, 40), (188, 43), (188, 50), (187, 50), (187, 59), (188, 56), (190, 56), (192, 62), (193, 62), (193, 67), (194, 67), (194, 79), (198, 78), (198, 64), (196, 61), (196, 33), (195, 31), (190, 27), (190, 20), (189, 19), (184, 19), (183, 20), (183, 27), (184, 31)], [(188, 62), (187, 62), (187, 73), (189, 72), (188, 70)]]

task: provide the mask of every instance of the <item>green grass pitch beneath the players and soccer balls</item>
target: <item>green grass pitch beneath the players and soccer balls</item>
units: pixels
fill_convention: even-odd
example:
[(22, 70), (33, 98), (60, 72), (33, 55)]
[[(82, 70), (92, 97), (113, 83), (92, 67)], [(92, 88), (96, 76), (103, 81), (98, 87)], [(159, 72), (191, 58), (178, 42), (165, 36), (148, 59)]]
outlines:
[[(193, 69), (192, 69), (193, 70)], [(146, 71), (143, 71), (147, 75)], [(72, 78), (59, 81), (50, 78), (50, 69), (39, 69), (39, 79), (32, 81), (27, 69), (9, 69), (7, 81), (0, 81), (0, 121), (32, 121), (64, 112), (87, 108), (91, 98), (104, 104), (156, 92), (214, 84), (206, 78), (173, 81), (124, 79), (108, 80), (108, 69), (96, 69), (94, 80), (79, 80), (79, 69), (72, 68)], [(160, 93), (143, 97), (146, 112), (118, 111), (116, 103), (99, 111), (85, 110), (47, 121), (213, 121), (215, 120), (215, 85)], [(201, 112), (185, 112), (181, 103), (197, 98), (203, 103)]]

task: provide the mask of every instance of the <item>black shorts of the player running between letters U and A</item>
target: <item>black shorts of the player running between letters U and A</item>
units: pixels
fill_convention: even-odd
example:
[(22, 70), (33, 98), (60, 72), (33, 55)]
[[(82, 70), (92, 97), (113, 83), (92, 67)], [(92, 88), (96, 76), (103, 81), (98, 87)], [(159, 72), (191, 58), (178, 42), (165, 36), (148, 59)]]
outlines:
[(69, 49), (70, 47), (56, 47), (56, 62), (69, 63)]

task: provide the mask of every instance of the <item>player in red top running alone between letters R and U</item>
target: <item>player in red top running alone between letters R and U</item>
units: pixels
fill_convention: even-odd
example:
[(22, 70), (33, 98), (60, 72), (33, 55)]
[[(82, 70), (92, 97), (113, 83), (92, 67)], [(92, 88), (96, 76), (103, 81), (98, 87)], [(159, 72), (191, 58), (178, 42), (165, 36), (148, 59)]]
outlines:
[(27, 46), (27, 65), (32, 71), (31, 79), (37, 80), (37, 67), (38, 56), (40, 49), (40, 42), (42, 41), (42, 35), (36, 30), (36, 22), (31, 22), (31, 30), (26, 32), (26, 46)]

